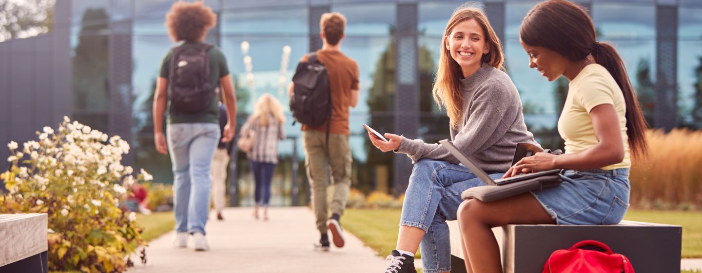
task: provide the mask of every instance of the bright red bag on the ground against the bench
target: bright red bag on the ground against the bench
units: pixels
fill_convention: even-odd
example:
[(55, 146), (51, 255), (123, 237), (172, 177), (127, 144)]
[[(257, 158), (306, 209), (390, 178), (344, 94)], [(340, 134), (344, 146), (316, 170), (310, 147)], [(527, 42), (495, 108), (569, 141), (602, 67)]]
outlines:
[[(597, 246), (603, 251), (581, 249), (583, 246)], [(600, 241), (585, 240), (568, 248), (553, 251), (543, 266), (543, 273), (561, 272), (602, 272), (634, 273), (634, 267), (625, 255), (613, 253), (609, 246)]]

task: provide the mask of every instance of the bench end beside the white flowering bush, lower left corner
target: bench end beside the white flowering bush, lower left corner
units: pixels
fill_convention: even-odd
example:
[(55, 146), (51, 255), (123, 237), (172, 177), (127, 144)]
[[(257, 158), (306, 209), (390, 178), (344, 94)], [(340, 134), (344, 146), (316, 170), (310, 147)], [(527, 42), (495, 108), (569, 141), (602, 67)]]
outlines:
[(0, 272), (48, 272), (46, 214), (0, 214)]

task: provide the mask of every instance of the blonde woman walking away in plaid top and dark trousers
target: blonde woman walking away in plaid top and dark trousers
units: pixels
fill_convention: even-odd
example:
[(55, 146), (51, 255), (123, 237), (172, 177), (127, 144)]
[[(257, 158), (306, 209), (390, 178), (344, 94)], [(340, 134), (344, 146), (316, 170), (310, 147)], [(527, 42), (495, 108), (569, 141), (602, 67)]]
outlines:
[(270, 183), (275, 166), (278, 164), (278, 141), (285, 139), (283, 130), (285, 117), (283, 106), (270, 94), (262, 94), (253, 113), (241, 127), (241, 135), (253, 134), (249, 158), (249, 168), (256, 186), (253, 190), (253, 217), (258, 219), (258, 209), (263, 208), (263, 220), (268, 220), (268, 202), (270, 201)]

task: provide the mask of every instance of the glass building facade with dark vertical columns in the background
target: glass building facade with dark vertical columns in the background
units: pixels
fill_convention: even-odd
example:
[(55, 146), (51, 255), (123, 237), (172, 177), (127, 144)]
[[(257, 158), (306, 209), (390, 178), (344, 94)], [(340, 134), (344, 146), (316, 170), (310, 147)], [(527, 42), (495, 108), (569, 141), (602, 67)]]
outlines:
[[(132, 144), (131, 163), (172, 181), (168, 157), (153, 145), (152, 98), (161, 59), (176, 44), (164, 17), (171, 0), (57, 1), (70, 13), (72, 117)], [(702, 127), (702, 2), (694, 0), (577, 1), (595, 21), (600, 41), (612, 42), (625, 61), (644, 115), (652, 127)], [(449, 138), (449, 120), (437, 109), (431, 87), (442, 32), (463, 1), (422, 0), (206, 0), (218, 25), (206, 41), (227, 57), (237, 90), (239, 123), (256, 98), (272, 94), (288, 104), (286, 86), (305, 53), (320, 48), (319, 18), (336, 11), (347, 18), (342, 50), (360, 70), (359, 104), (351, 109), (353, 187), (364, 192), (404, 192), (411, 162), (380, 153), (367, 140), (366, 123), (379, 132), (438, 141)], [(491, 24), (503, 43), (508, 73), (517, 86), (529, 130), (545, 147), (559, 148), (555, 129), (567, 80), (544, 80), (529, 69), (519, 45), (519, 25), (538, 1), (485, 0)], [(58, 6), (57, 6), (58, 8)], [(57, 14), (57, 17), (60, 14)], [(242, 48), (248, 43), (248, 50)], [(284, 47), (291, 48), (289, 54)], [(251, 58), (251, 75), (244, 57)], [(304, 204), (307, 178), (300, 125), (285, 130), (273, 180), (272, 204)], [(252, 204), (253, 182), (246, 158), (230, 169), (234, 204)], [(297, 197), (293, 200), (293, 197)]]

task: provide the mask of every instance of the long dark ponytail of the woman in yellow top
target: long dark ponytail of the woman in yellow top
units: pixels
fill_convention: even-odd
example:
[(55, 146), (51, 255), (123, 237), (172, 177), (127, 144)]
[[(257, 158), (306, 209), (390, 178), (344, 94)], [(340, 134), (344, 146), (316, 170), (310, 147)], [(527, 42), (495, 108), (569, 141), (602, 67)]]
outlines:
[(629, 137), (629, 147), (634, 158), (645, 158), (649, 151), (645, 132), (648, 126), (621, 57), (611, 43), (595, 43), (592, 57), (595, 57), (597, 64), (604, 66), (609, 71), (624, 94), (626, 134)]

